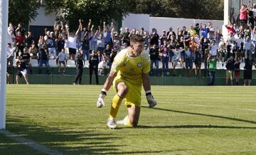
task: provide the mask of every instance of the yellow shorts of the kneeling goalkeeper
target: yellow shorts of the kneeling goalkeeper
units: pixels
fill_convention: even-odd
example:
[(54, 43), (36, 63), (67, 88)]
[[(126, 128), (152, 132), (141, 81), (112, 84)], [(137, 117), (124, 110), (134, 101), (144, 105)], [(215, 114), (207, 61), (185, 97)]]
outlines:
[(119, 75), (114, 78), (113, 86), (117, 92), (117, 85), (119, 82), (124, 82), (128, 87), (128, 93), (125, 97), (124, 105), (135, 105), (135, 107), (141, 107), (142, 102), (142, 85), (133, 85), (127, 80), (122, 79)]

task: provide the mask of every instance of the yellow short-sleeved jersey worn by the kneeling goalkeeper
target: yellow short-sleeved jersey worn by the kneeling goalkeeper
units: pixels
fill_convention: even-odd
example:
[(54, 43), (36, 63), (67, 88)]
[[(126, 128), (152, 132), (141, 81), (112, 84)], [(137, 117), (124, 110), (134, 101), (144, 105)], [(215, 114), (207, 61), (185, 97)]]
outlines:
[(142, 73), (149, 73), (149, 55), (142, 51), (137, 58), (128, 54), (129, 48), (121, 50), (114, 58), (111, 71), (117, 73), (117, 77), (134, 85), (142, 85)]

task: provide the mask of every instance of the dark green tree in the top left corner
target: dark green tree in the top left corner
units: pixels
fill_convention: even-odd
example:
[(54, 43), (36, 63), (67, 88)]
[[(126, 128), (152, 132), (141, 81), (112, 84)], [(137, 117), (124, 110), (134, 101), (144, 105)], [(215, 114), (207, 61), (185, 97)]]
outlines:
[[(4, 0), (3, 0), (4, 1)], [(9, 0), (9, 22), (28, 23), (38, 15), (37, 9), (41, 6), (40, 1), (35, 0)]]

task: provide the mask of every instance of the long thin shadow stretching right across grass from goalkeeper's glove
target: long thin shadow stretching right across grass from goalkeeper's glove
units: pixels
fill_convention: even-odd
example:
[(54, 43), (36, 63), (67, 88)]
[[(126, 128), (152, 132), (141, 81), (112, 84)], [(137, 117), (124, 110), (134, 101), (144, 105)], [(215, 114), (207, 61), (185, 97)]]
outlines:
[[(149, 107), (146, 107), (146, 106), (142, 106), (142, 107), (149, 108)], [(229, 120), (238, 121), (238, 122), (246, 122), (246, 123), (256, 124), (255, 121), (250, 121), (250, 120), (246, 120), (246, 119), (237, 119), (237, 118), (233, 118), (233, 117), (223, 117), (223, 116), (218, 116), (218, 115), (214, 115), (214, 114), (201, 114), (201, 113), (196, 113), (196, 112), (184, 112), (184, 111), (179, 111), (179, 110), (174, 110), (174, 109), (163, 109), (163, 108), (159, 108), (159, 107), (154, 107), (154, 109), (162, 110), (162, 111), (166, 111), (166, 112), (177, 112), (177, 113), (181, 113), (181, 114), (194, 114), (194, 115), (204, 116), (204, 117), (215, 117), (215, 118), (220, 118), (220, 119), (229, 119)]]

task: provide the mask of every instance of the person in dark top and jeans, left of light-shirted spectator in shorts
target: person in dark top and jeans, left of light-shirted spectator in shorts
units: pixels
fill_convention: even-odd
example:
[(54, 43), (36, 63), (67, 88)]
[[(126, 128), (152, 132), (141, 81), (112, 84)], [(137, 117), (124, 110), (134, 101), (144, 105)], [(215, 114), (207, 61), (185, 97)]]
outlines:
[(42, 67), (43, 64), (46, 65), (46, 73), (49, 75), (49, 59), (48, 59), (48, 49), (46, 48), (46, 46), (43, 46), (40, 50), (39, 50), (39, 70), (38, 70), (38, 74), (42, 73)]

